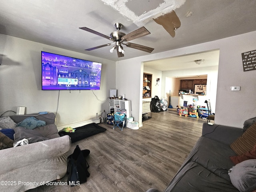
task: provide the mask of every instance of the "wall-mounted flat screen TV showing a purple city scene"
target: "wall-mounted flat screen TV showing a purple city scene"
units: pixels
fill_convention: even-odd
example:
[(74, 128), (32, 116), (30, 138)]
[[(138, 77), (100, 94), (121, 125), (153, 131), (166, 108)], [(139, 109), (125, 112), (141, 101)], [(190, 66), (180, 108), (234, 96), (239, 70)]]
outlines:
[(99, 90), (101, 63), (41, 52), (42, 90)]

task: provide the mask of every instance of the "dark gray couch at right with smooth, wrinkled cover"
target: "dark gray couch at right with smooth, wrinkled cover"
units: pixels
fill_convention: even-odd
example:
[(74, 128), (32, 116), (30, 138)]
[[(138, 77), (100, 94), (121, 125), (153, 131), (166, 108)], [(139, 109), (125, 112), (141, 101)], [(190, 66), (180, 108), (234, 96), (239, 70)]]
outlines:
[(228, 170), (234, 166), (230, 156), (237, 155), (230, 144), (243, 133), (241, 128), (204, 123), (202, 136), (164, 192), (239, 192)]

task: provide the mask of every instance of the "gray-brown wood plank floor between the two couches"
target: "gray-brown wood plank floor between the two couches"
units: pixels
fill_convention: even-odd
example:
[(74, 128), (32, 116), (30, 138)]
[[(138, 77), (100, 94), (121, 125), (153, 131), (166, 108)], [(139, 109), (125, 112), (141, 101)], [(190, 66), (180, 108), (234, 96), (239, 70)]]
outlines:
[[(89, 149), (87, 182), (79, 186), (40, 186), (29, 192), (146, 192), (164, 191), (201, 136), (201, 118), (168, 110), (152, 113), (138, 130), (99, 124), (107, 130), (72, 144)], [(61, 181), (66, 182), (67, 176)]]

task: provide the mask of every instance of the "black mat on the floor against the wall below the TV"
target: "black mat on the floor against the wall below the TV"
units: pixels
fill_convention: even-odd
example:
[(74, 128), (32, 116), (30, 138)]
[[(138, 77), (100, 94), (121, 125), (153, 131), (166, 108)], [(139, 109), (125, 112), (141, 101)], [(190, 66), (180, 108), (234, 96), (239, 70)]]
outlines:
[(105, 128), (98, 126), (96, 123), (91, 123), (84, 125), (82, 127), (77, 127), (74, 133), (60, 131), (59, 135), (64, 136), (68, 135), (71, 138), (71, 143), (82, 140), (84, 138), (96, 135), (98, 133), (106, 131)]

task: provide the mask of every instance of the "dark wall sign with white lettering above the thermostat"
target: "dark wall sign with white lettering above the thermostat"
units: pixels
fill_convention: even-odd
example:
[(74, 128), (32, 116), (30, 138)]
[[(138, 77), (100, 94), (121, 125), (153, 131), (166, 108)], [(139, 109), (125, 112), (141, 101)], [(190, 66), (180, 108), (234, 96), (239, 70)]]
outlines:
[(256, 70), (256, 50), (242, 53), (244, 71)]

